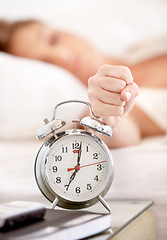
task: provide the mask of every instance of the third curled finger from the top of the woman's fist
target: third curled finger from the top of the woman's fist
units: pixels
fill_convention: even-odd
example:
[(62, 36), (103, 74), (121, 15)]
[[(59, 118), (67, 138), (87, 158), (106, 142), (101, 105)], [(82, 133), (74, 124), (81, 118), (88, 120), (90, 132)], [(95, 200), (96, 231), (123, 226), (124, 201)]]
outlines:
[(112, 104), (116, 106), (124, 106), (125, 101), (122, 101), (121, 94), (105, 91), (104, 89), (96, 89), (88, 92), (90, 101), (98, 99), (103, 103)]

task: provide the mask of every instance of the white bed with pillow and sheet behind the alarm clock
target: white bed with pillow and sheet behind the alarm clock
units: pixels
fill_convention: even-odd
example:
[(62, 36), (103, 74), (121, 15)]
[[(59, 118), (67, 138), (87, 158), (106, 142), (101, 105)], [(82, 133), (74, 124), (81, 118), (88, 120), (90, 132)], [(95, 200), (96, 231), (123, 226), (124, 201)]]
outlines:
[[(52, 118), (53, 108), (60, 101), (87, 101), (87, 89), (63, 69), (8, 54), (0, 55), (0, 72), (0, 202), (43, 202), (33, 173), (35, 156), (42, 144), (35, 139), (36, 130), (44, 118)], [(61, 83), (57, 84), (59, 79)], [(66, 90), (60, 91), (64, 84)], [(58, 113), (72, 127), (69, 111), (78, 118), (84, 109), (79, 107), (76, 111), (71, 106)], [(111, 153), (115, 177), (106, 199), (153, 200), (162, 240), (167, 234), (167, 137), (148, 138), (138, 146), (112, 149)]]

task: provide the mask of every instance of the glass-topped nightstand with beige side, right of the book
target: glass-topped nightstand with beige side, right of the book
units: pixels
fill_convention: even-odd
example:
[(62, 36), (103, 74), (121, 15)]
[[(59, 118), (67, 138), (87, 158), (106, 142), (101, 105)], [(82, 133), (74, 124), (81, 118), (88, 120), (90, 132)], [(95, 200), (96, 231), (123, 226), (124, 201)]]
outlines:
[[(150, 210), (150, 207), (153, 205), (152, 201), (118, 200), (118, 201), (107, 201), (107, 203), (112, 209), (111, 229), (113, 233), (109, 233), (109, 231), (106, 231), (102, 234), (96, 235), (88, 239), (97, 239), (97, 240), (105, 240), (105, 239), (154, 240), (156, 239), (155, 219), (152, 211)], [(99, 204), (91, 207), (91, 211), (99, 212), (99, 213), (105, 212), (103, 207), (101, 207)], [(148, 231), (151, 231), (152, 235), (150, 237), (147, 236), (147, 238), (145, 238), (145, 234), (147, 235), (150, 234), (150, 233), (147, 233)], [(135, 235), (138, 233), (140, 237)], [(130, 235), (132, 235), (132, 238)]]

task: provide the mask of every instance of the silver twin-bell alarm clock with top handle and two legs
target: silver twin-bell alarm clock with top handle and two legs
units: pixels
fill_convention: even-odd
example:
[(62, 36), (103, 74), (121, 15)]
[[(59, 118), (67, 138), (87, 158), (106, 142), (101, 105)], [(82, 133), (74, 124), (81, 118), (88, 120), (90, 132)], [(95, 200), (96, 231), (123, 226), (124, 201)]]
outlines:
[[(91, 117), (72, 119), (73, 129), (58, 131), (66, 122), (56, 118), (56, 110), (69, 103), (86, 104)], [(51, 208), (82, 209), (100, 201), (111, 211), (103, 197), (113, 181), (113, 159), (106, 144), (96, 136), (96, 132), (112, 136), (111, 127), (94, 116), (88, 102), (79, 100), (59, 103), (53, 119), (44, 122), (36, 137), (51, 137), (40, 148), (34, 168), (37, 185), (52, 202)]]

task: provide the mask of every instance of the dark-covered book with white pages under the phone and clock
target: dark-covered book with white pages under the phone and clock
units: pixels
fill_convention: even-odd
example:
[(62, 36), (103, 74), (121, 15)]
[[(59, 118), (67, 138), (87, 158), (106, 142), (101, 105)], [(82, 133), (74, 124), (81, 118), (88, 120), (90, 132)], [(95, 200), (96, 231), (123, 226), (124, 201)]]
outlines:
[(110, 214), (47, 209), (43, 220), (1, 232), (1, 240), (75, 240), (110, 228)]

